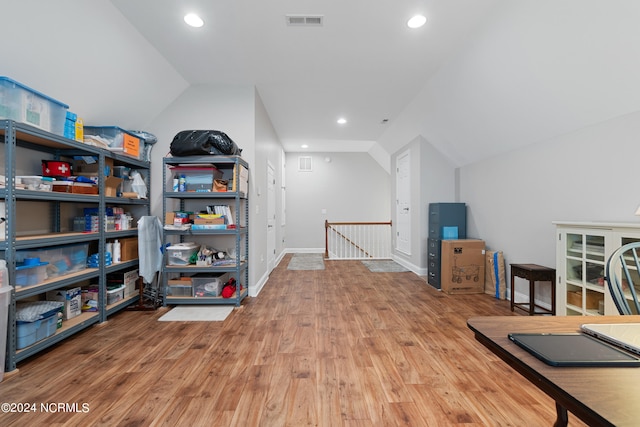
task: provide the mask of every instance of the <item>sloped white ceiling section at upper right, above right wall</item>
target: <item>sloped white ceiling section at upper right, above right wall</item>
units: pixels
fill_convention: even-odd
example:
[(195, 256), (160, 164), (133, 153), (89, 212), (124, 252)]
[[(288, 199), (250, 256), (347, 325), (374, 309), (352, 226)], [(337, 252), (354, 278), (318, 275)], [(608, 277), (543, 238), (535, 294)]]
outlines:
[(639, 111), (639, 20), (635, 0), (503, 1), (378, 142), (462, 166)]

